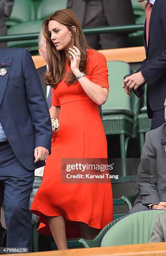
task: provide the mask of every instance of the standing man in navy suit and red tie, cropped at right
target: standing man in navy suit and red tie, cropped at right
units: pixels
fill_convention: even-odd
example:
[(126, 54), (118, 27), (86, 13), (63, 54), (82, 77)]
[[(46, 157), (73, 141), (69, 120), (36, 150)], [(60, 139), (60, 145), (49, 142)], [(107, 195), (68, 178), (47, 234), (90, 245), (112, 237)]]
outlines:
[[(143, 2), (146, 0), (137, 0)], [(124, 80), (130, 95), (147, 82), (147, 113), (153, 118), (151, 130), (165, 123), (163, 102), (166, 97), (166, 0), (149, 0), (146, 8), (143, 42), (146, 59), (135, 74)]]

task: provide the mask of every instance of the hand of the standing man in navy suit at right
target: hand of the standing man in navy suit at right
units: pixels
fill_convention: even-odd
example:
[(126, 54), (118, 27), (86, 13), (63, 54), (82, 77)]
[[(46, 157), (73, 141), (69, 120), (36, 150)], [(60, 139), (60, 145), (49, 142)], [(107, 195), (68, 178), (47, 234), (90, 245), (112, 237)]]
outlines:
[[(127, 87), (128, 91), (136, 91), (138, 87), (141, 84), (144, 84), (146, 82), (145, 78), (143, 77), (141, 71), (135, 74), (132, 74), (131, 76), (127, 77), (123, 81), (123, 88)], [(126, 90), (125, 90), (126, 92)], [(126, 92), (127, 93), (127, 92)]]

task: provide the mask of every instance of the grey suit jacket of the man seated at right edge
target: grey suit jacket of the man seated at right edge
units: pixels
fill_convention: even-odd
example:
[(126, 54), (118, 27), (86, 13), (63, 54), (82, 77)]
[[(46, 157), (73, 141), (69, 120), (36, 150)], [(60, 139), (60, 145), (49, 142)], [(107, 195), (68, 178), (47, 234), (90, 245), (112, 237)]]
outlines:
[(134, 205), (166, 202), (166, 123), (146, 133), (136, 182), (140, 196)]

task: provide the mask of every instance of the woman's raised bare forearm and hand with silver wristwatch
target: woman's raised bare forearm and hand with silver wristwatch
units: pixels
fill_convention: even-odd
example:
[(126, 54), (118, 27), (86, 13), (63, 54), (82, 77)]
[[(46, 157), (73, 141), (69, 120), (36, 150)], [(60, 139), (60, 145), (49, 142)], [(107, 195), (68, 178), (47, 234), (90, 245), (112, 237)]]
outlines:
[[(71, 65), (70, 68), (75, 75), (75, 77), (79, 76), (81, 74), (79, 70), (79, 64), (80, 64), (80, 51), (77, 47), (73, 46), (73, 49), (69, 48), (70, 55), (70, 61)], [(103, 105), (108, 97), (108, 89), (101, 87), (101, 85), (98, 85), (91, 80), (89, 80), (87, 77), (81, 77), (79, 79), (80, 85), (83, 87), (83, 90), (86, 92), (86, 94), (96, 102), (98, 105)]]

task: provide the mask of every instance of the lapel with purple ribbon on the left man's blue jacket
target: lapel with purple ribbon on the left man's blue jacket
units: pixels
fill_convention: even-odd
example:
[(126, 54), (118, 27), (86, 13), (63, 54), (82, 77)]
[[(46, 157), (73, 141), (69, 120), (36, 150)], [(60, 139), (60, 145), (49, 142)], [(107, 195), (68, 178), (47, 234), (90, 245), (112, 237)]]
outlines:
[(4, 63), (6, 61), (9, 62), (10, 66), (9, 67), (4, 67), (7, 71), (7, 73), (4, 76), (0, 76), (0, 105), (2, 103), (3, 96), (4, 96), (4, 93), (5, 93), (5, 90), (6, 90), (6, 86), (7, 86), (7, 83), (8, 83), (8, 77), (9, 77), (9, 73), (10, 73), (10, 68), (11, 68), (11, 64), (12, 64), (12, 58), (5, 55), (3, 50), (0, 49), (0, 62)]

